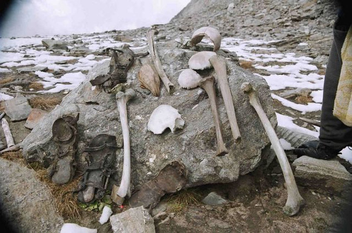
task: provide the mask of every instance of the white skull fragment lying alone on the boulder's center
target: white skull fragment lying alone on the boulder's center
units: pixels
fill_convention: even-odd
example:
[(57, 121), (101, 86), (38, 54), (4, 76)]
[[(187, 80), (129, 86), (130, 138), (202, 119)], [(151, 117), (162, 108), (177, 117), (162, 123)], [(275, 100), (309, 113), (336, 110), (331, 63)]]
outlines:
[(168, 104), (162, 104), (153, 110), (147, 129), (154, 134), (162, 134), (165, 129), (170, 128), (173, 133), (175, 129), (182, 129), (183, 125), (184, 120), (178, 110)]

